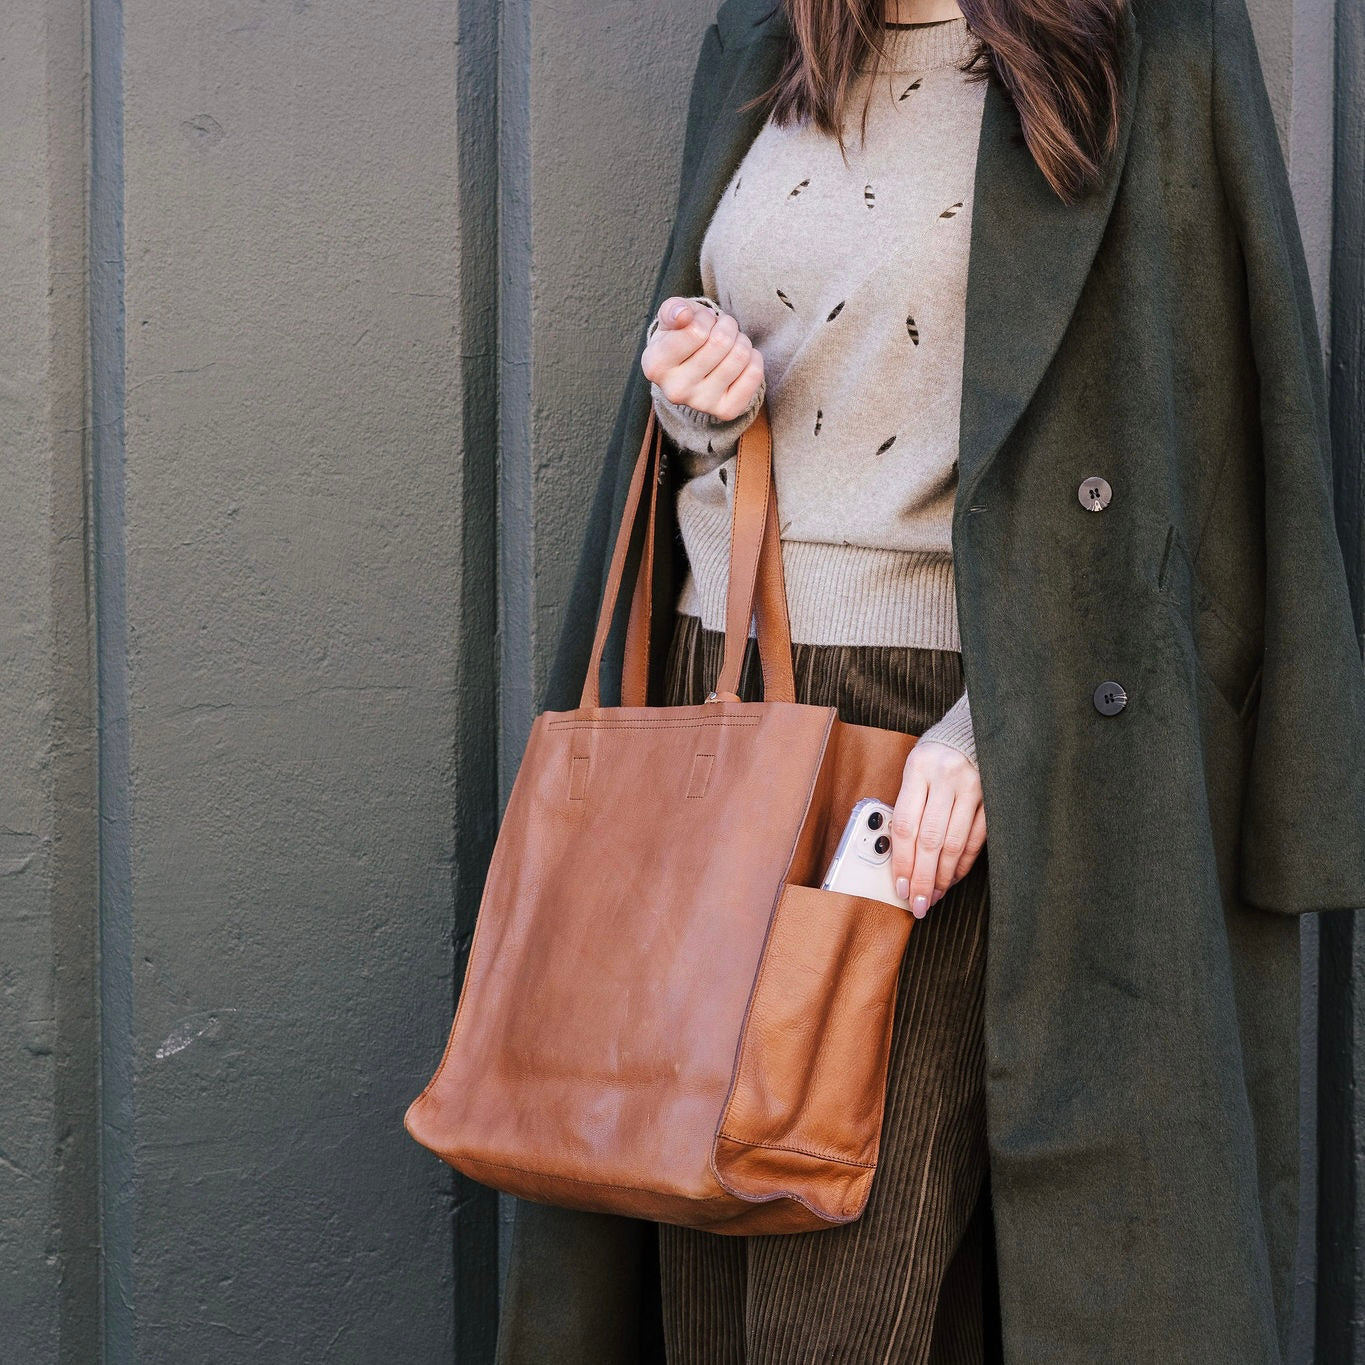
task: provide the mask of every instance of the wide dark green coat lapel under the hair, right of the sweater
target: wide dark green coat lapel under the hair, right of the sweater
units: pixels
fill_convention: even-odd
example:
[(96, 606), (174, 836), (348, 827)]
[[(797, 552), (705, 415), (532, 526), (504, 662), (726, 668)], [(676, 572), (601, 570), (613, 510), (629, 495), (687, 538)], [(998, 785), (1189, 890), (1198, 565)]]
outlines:
[(1132, 4), (1118, 147), (1074, 203), (1052, 192), (998, 82), (987, 87), (972, 206), (957, 508), (965, 508), (1062, 340), (1108, 222), (1133, 126), (1141, 51)]

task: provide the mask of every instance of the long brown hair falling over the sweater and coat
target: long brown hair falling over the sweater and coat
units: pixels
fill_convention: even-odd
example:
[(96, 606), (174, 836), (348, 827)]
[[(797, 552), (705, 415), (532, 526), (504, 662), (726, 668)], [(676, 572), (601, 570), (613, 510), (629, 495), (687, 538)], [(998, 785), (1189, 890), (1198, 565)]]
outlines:
[[(958, 0), (975, 40), (961, 70), (1005, 86), (1024, 141), (1063, 202), (1099, 182), (1118, 141), (1122, 5), (1126, 0)], [(777, 0), (792, 27), (773, 120), (811, 119), (838, 138), (849, 85), (867, 55), (882, 60), (885, 0)], [(867, 132), (867, 105), (863, 106)]]

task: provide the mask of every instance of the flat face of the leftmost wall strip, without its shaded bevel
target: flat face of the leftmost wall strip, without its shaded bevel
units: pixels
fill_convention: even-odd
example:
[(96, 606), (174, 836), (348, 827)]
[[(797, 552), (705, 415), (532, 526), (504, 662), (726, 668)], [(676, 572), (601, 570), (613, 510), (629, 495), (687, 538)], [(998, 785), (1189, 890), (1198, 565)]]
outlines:
[[(44, 123), (41, 8), (8, 12), (0, 44), (16, 81), (0, 83), (0, 136), (7, 149), (5, 213), (0, 218), (0, 1284), (19, 1349), (51, 1358), (57, 1338), (56, 1286), (42, 1248), (53, 1226), (53, 913), (52, 788), (48, 773), (52, 685), (52, 603), (48, 517), (52, 431), (48, 423), (48, 330), (44, 287), (45, 210), (51, 192)], [(12, 158), (12, 160), (11, 160)]]

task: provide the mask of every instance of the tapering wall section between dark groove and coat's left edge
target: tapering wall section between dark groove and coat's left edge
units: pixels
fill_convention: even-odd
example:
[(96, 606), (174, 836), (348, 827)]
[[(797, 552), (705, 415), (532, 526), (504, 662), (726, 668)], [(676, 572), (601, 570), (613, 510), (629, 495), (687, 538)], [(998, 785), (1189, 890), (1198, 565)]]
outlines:
[[(535, 517), (528, 628), (536, 696), (621, 385), (639, 362), (635, 343), (672, 228), (688, 85), (715, 8), (715, 0), (530, 4), (535, 270), (524, 457)], [(511, 749), (515, 759), (521, 744)]]

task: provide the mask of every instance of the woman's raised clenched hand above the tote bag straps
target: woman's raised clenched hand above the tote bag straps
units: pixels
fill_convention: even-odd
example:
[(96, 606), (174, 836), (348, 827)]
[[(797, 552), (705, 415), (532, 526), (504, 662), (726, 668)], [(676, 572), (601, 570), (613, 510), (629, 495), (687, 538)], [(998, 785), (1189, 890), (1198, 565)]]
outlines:
[(659, 304), (659, 325), (640, 356), (644, 377), (669, 403), (721, 422), (748, 408), (763, 382), (763, 354), (729, 313), (677, 296)]

